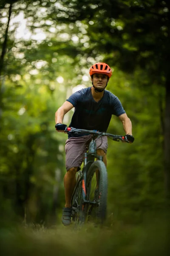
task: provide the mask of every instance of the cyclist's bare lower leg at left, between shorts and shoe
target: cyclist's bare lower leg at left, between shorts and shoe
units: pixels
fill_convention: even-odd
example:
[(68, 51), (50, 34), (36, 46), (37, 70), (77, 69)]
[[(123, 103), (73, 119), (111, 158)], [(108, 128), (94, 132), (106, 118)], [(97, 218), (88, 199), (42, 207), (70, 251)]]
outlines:
[(65, 207), (71, 207), (71, 196), (76, 186), (76, 172), (78, 167), (70, 168), (64, 176)]

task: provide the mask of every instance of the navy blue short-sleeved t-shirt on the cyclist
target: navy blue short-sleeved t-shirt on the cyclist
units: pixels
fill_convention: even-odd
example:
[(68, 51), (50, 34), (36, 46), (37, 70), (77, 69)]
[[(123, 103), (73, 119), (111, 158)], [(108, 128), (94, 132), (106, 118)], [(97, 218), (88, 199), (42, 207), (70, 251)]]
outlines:
[(126, 113), (119, 99), (108, 90), (104, 90), (98, 102), (92, 96), (91, 87), (73, 93), (67, 101), (75, 107), (69, 127), (78, 129), (106, 132), (112, 115)]

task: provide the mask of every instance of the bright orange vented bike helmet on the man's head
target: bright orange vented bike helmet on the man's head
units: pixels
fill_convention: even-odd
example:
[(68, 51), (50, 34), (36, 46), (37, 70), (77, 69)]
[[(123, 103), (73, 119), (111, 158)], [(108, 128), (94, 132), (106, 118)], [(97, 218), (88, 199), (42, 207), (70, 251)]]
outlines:
[(97, 74), (105, 74), (107, 75), (109, 78), (112, 75), (112, 71), (111, 68), (109, 67), (108, 64), (103, 63), (103, 62), (98, 62), (96, 64), (94, 64), (93, 66), (91, 66), (90, 68), (90, 76), (93, 76), (93, 74), (97, 73)]

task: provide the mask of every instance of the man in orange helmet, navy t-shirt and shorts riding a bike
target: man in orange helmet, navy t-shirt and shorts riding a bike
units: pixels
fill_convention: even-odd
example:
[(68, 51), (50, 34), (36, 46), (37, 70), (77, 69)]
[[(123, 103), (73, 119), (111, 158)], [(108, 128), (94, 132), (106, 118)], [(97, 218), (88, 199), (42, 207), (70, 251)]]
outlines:
[[(64, 115), (75, 108), (69, 127), (97, 130), (106, 132), (111, 121), (111, 116), (119, 116), (123, 124), (126, 139), (133, 143), (132, 124), (127, 117), (119, 99), (108, 90), (105, 90), (112, 71), (108, 64), (99, 62), (90, 68), (92, 87), (88, 87), (73, 93), (57, 110), (55, 121), (57, 131), (64, 132), (66, 125), (62, 124)], [(62, 223), (71, 224), (71, 196), (76, 184), (76, 172), (79, 171), (83, 161), (86, 146), (91, 140), (91, 135), (72, 137), (68, 135), (65, 143), (66, 169), (64, 177), (65, 207), (62, 213)], [(96, 139), (97, 154), (103, 156), (103, 162), (107, 165), (107, 137)]]

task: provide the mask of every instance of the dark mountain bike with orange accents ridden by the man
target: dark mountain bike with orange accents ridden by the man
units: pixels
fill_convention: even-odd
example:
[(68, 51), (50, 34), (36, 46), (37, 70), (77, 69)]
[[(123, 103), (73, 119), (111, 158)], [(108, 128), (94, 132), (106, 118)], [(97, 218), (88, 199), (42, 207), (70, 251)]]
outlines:
[[(77, 226), (92, 221), (103, 224), (106, 218), (108, 177), (103, 157), (96, 154), (96, 138), (107, 136), (114, 141), (124, 141), (124, 136), (95, 130), (67, 128), (72, 135), (92, 134), (88, 150), (84, 154), (84, 166), (77, 173), (77, 183), (71, 198), (72, 221)], [(101, 143), (102, 144), (102, 143)]]

